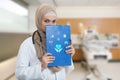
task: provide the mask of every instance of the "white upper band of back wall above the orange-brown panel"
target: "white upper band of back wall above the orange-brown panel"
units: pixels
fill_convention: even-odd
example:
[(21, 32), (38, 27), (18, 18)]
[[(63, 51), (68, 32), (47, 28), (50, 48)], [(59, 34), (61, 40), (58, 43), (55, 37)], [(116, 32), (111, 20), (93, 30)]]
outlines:
[(120, 18), (120, 7), (58, 7), (59, 18)]

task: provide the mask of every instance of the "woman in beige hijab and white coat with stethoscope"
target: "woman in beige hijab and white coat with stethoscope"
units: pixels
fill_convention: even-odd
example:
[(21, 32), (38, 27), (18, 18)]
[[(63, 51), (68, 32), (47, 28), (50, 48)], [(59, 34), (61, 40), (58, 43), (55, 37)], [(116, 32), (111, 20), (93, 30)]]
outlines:
[[(55, 60), (54, 56), (46, 54), (45, 26), (56, 25), (57, 15), (53, 6), (44, 4), (36, 11), (37, 31), (27, 38), (20, 46), (16, 64), (16, 78), (18, 80), (66, 80), (66, 74), (74, 69), (71, 66), (48, 67), (48, 63)], [(74, 55), (72, 45), (66, 52)], [(72, 60), (71, 60), (72, 61)]]

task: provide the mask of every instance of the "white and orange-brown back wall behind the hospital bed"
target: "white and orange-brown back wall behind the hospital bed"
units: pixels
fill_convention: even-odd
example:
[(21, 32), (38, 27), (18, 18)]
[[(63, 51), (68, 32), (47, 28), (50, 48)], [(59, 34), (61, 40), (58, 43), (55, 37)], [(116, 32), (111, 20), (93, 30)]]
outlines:
[(70, 24), (72, 33), (83, 27), (95, 26), (101, 33), (120, 33), (120, 7), (58, 7), (58, 24)]

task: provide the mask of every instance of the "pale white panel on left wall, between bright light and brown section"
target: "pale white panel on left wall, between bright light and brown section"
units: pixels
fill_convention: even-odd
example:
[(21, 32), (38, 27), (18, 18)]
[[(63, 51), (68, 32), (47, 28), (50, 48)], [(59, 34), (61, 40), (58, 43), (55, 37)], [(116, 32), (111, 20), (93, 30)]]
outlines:
[(28, 33), (28, 18), (0, 8), (0, 32)]

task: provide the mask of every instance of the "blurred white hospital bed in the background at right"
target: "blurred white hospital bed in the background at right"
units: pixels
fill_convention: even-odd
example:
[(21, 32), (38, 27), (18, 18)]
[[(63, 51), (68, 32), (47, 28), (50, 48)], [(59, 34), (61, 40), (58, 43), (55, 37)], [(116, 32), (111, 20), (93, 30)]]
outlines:
[(92, 75), (99, 80), (112, 80), (101, 72), (97, 65), (99, 60), (95, 59), (95, 55), (101, 55), (101, 53), (106, 54), (105, 46), (102, 43), (99, 43), (99, 40), (99, 33), (94, 30), (93, 27), (88, 27), (88, 29), (82, 33), (82, 50), (86, 60), (86, 62), (82, 62), (82, 66), (87, 70), (86, 80), (92, 80)]

